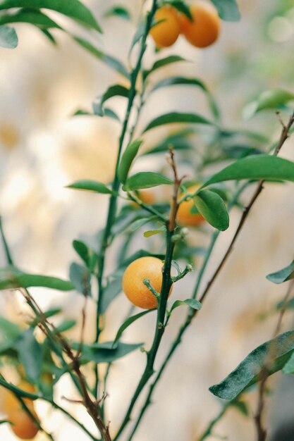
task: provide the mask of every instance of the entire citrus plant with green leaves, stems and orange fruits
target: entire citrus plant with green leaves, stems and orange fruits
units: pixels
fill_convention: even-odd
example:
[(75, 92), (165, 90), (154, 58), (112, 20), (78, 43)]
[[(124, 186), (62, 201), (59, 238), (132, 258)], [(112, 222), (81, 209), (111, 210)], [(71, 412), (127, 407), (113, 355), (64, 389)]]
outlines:
[[(270, 118), (274, 118), (275, 109), (286, 112), (283, 120), (280, 116), (281, 135), (271, 144), (259, 132), (247, 128), (234, 130), (224, 127), (221, 109), (209, 85), (200, 78), (183, 75), (154, 80), (157, 70), (185, 61), (178, 54), (166, 56), (164, 53), (164, 48), (172, 46), (180, 34), (187, 39), (187, 44), (205, 48), (217, 41), (221, 20), (239, 20), (240, 13), (235, 0), (195, 0), (191, 3), (183, 0), (152, 0), (148, 4), (145, 1), (142, 3), (140, 23), (137, 24), (130, 46), (129, 63), (104, 53), (87, 37), (72, 35), (46, 13), (47, 9), (53, 9), (93, 32), (100, 32), (101, 27), (94, 15), (78, 0), (4, 0), (0, 4), (3, 11), (0, 15), (1, 46), (13, 48), (17, 44), (16, 32), (7, 24), (31, 23), (51, 42), (55, 42), (55, 35), (51, 34), (51, 29), (55, 28), (68, 32), (86, 51), (121, 75), (121, 82), (109, 85), (104, 94), (94, 101), (92, 111), (78, 109), (75, 112), (76, 118), (87, 114), (97, 118), (113, 118), (121, 125), (121, 135), (111, 182), (105, 184), (88, 180), (85, 176), (85, 180), (68, 184), (68, 189), (104, 194), (105, 203), (108, 204), (106, 223), (97, 232), (95, 240), (89, 243), (80, 238), (73, 240), (78, 263), (71, 263), (68, 280), (25, 273), (18, 268), (0, 218), (1, 240), (7, 261), (6, 266), (0, 270), (0, 289), (18, 290), (32, 313), (30, 321), (23, 323), (23, 329), (4, 317), (0, 318), (1, 361), (3, 364), (10, 363), (18, 377), (18, 381), (13, 382), (4, 373), (0, 374), (1, 388), (6, 391), (3, 406), (6, 419), (2, 423), (9, 424), (20, 439), (31, 439), (41, 431), (54, 441), (54, 433), (44, 428), (44, 421), (35, 411), (36, 400), (47, 402), (52, 409), (61, 412), (93, 441), (138, 439), (137, 428), (152, 401), (161, 375), (172, 361), (184, 333), (201, 314), (207, 295), (264, 185), (267, 181), (294, 182), (294, 163), (278, 157), (293, 131), (294, 114), (290, 103), (294, 94), (280, 89), (269, 90), (247, 106), (247, 116), (251, 117), (266, 109), (272, 110)], [(127, 20), (131, 18), (124, 6), (111, 8), (106, 15), (118, 15)], [(151, 66), (147, 66), (145, 59), (147, 47), (154, 49)], [(199, 89), (207, 100), (209, 116), (203, 116), (201, 108), (195, 108), (192, 113), (171, 109), (168, 113), (154, 114), (152, 120), (141, 129), (138, 123), (149, 97), (159, 89), (173, 89), (177, 85)], [(113, 97), (125, 99), (123, 120), (109, 104)], [(183, 128), (169, 132), (159, 144), (146, 147), (147, 133), (159, 127), (168, 128), (174, 123), (183, 125)], [(195, 154), (191, 137), (194, 127), (197, 127), (205, 143), (205, 151), (201, 156)], [(257, 145), (254, 149), (251, 146), (252, 139)], [(135, 173), (135, 163), (142, 163), (147, 155), (165, 155), (166, 164), (159, 166), (157, 171)], [(180, 172), (183, 168), (185, 173)], [(159, 200), (154, 189), (161, 186), (169, 190), (164, 193), (167, 196)], [(247, 194), (245, 190), (248, 187), (255, 190), (251, 199), (245, 201), (247, 196), (244, 194)], [(230, 212), (233, 208), (242, 209), (240, 221), (228, 248), (223, 250), (223, 258), (207, 286), (201, 290), (212, 251), (221, 232), (230, 226)], [(205, 249), (192, 245), (190, 232), (193, 229), (209, 235), (209, 244)], [(137, 238), (142, 236), (146, 239), (144, 249), (137, 246)], [(106, 261), (113, 247), (118, 250), (118, 259), (112, 263), (114, 271), (106, 273)], [(191, 272), (195, 278), (194, 287), (186, 299), (177, 299), (176, 294), (173, 294), (177, 283)], [(209, 423), (198, 441), (212, 434), (214, 426), (230, 407), (235, 406), (249, 414), (244, 397), (256, 385), (259, 387), (259, 406), (255, 416), (257, 439), (267, 439), (267, 428), (263, 420), (267, 378), (276, 371), (294, 372), (294, 331), (280, 333), (283, 312), (293, 307), (293, 298), (290, 297), (293, 277), (293, 262), (268, 276), (274, 283), (290, 281), (287, 295), (277, 307), (278, 325), (274, 335), (271, 340), (254, 349), (221, 383), (210, 387), (210, 392), (226, 401), (220, 414)], [(73, 341), (67, 337), (66, 330), (75, 323), (54, 325), (51, 317), (60, 313), (60, 310), (43, 311), (30, 293), (31, 287), (75, 290), (84, 297), (85, 306), (87, 299), (92, 297), (96, 306), (94, 341), (85, 342), (85, 306), (81, 311), (80, 340)], [(125, 302), (143, 311), (133, 311), (132, 307), (113, 340), (105, 341), (102, 331), (108, 325), (106, 311), (122, 292), (126, 296)], [(173, 311), (178, 307), (186, 309), (184, 321), (178, 326), (169, 351), (161, 356), (158, 364), (157, 355), (161, 351), (162, 337), (165, 332), (169, 332), (168, 324), (173, 320)], [(123, 342), (124, 331), (147, 313), (154, 316), (149, 347), (142, 347), (140, 342)], [(133, 386), (130, 402), (121, 406), (121, 421), (114, 422), (111, 410), (109, 414), (105, 406), (107, 393), (111, 392), (108, 389), (109, 376), (117, 359), (138, 349), (142, 350), (142, 356), (145, 357), (145, 366), (139, 381)], [(90, 368), (93, 378), (85, 374)], [(66, 406), (57, 403), (54, 390), (63, 375), (69, 375), (77, 390), (79, 399), (74, 400), (73, 404), (85, 406), (97, 430), (87, 428)]]

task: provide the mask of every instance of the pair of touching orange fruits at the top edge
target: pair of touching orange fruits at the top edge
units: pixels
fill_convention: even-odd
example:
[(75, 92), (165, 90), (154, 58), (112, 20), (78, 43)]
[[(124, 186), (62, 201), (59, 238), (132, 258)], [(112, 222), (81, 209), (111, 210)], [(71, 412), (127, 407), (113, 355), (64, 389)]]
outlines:
[(205, 0), (197, 0), (190, 6), (192, 20), (173, 6), (163, 6), (155, 13), (158, 22), (150, 30), (157, 47), (168, 47), (183, 34), (192, 46), (204, 48), (219, 37), (221, 20), (216, 8)]

